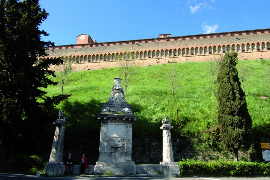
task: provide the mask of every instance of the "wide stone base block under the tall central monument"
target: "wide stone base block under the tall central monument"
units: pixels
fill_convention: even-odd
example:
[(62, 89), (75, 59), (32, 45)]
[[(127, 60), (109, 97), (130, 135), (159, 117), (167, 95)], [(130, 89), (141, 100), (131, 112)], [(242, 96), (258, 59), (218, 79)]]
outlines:
[(135, 175), (136, 165), (106, 164), (95, 165), (95, 175), (104, 175), (111, 171), (113, 175)]

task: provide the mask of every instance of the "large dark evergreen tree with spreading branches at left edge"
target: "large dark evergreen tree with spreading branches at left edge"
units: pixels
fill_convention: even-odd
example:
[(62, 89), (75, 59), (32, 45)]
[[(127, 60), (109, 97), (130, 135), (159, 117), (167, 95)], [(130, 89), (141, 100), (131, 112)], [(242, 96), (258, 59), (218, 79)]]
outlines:
[(61, 59), (35, 64), (38, 56), (46, 55), (44, 46), (54, 45), (41, 41), (48, 35), (39, 30), (47, 15), (38, 0), (0, 0), (0, 164), (16, 140), (32, 140), (31, 135), (50, 123), (50, 110), (69, 96), (49, 98), (44, 91), (56, 85), (47, 78), (54, 76), (48, 68)]

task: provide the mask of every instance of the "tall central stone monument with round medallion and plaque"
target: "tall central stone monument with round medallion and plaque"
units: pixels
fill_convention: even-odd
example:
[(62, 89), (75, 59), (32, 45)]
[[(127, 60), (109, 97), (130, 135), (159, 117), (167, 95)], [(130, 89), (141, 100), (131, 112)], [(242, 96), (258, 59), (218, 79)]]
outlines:
[(132, 106), (126, 103), (121, 78), (114, 78), (109, 101), (102, 103), (101, 113), (96, 114), (101, 122), (98, 161), (95, 175), (112, 172), (114, 175), (136, 174), (131, 160), (132, 124), (138, 116), (132, 115)]

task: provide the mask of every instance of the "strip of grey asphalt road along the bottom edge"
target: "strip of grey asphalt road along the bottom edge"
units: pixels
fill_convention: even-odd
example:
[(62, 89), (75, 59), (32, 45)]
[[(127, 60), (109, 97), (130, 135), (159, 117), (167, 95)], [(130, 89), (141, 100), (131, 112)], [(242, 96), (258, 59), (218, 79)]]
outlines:
[(206, 177), (194, 177), (194, 178), (172, 178), (172, 177), (93, 177), (93, 176), (73, 176), (73, 177), (41, 177), (41, 176), (29, 176), (29, 175), (22, 175), (22, 174), (7, 174), (7, 173), (0, 173), (0, 180), (5, 179), (13, 179), (13, 180), (270, 180), (270, 178), (230, 178), (230, 177), (224, 177), (224, 178), (206, 178)]

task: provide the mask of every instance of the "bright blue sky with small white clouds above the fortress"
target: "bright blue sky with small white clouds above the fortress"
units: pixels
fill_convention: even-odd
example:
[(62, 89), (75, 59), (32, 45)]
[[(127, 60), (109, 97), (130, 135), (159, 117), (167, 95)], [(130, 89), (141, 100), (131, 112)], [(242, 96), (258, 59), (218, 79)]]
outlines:
[(98, 42), (270, 28), (270, 0), (41, 0), (42, 23), (55, 45), (76, 36)]

